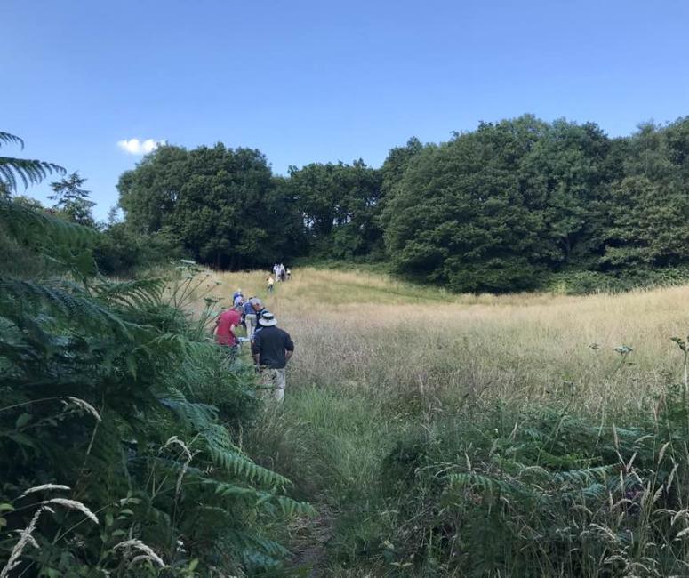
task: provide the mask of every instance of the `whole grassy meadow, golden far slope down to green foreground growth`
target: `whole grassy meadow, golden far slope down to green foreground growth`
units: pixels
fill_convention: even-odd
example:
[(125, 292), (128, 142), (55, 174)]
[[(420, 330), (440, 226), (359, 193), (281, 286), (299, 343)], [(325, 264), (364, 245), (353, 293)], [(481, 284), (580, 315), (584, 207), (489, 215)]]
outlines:
[(689, 287), (453, 295), (304, 268), (268, 295), (267, 273), (208, 275), (226, 304), (237, 287), (263, 299), (296, 344), (284, 405), (242, 440), (319, 512), (289, 528), (291, 572), (687, 570), (689, 417), (668, 386)]

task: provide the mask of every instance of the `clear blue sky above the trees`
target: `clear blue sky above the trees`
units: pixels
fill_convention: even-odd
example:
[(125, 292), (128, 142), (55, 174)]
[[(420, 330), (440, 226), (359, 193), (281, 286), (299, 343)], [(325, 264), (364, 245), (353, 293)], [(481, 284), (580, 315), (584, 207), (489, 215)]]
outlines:
[(285, 173), (525, 112), (611, 135), (689, 115), (680, 0), (3, 0), (0, 21), (0, 130), (27, 145), (4, 153), (79, 170), (100, 218), (140, 160), (120, 140), (255, 147)]

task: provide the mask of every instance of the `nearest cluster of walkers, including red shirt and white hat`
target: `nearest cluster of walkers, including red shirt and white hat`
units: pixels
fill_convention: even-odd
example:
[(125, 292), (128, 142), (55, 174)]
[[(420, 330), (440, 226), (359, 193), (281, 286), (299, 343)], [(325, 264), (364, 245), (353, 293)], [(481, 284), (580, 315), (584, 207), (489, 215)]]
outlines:
[[(288, 270), (285, 270), (285, 276)], [(294, 353), (290, 334), (277, 326), (276, 317), (258, 297), (244, 299), (242, 290), (237, 289), (232, 303), (232, 308), (222, 311), (215, 320), (213, 334), (216, 343), (229, 348), (236, 356), (240, 343), (249, 341), (253, 362), (260, 373), (261, 386), (272, 390), (273, 397), (282, 401), (286, 385), (285, 368)], [(245, 327), (246, 337), (237, 334), (240, 326)]]

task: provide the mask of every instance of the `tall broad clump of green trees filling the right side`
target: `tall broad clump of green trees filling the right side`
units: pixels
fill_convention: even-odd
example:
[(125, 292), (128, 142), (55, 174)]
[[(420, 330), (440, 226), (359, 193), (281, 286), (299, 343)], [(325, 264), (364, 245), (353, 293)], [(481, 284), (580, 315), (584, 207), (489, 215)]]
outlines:
[(689, 261), (689, 120), (609, 139), (522, 116), (412, 157), (384, 211), (398, 272), (458, 291)]

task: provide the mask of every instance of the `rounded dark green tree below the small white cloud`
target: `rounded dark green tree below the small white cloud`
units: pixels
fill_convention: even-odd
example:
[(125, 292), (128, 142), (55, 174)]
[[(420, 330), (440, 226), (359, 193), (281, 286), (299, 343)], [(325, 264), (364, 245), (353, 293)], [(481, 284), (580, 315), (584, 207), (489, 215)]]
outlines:
[(299, 246), (298, 215), (255, 149), (162, 147), (124, 173), (118, 189), (133, 229), (165, 230), (216, 267), (266, 265)]

